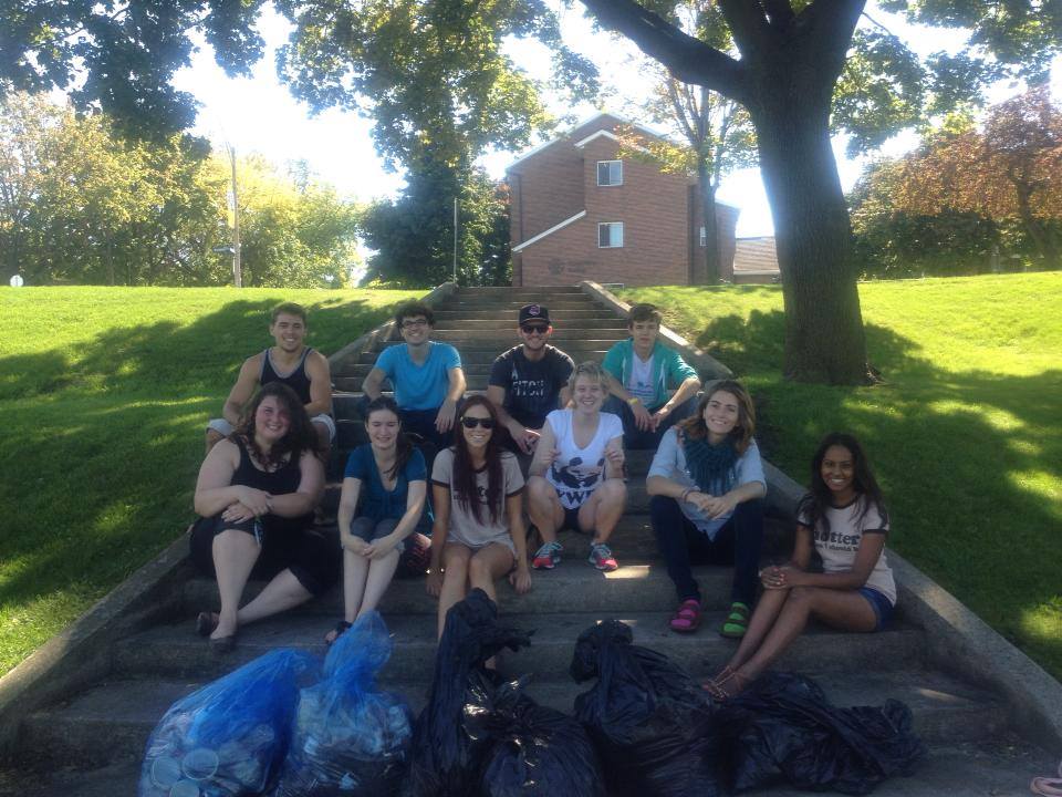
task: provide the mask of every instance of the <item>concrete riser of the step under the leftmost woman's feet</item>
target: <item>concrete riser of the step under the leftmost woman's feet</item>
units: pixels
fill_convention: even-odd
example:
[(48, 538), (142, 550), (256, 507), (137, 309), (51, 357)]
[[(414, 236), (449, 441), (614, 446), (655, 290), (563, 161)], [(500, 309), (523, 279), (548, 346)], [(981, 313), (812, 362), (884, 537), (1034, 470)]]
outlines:
[[(535, 630), (535, 634), (530, 649), (504, 653), (502, 669), (506, 672), (532, 674), (537, 680), (563, 680), (568, 676), (572, 662), (575, 639), (593, 623), (593, 614), (577, 620), (548, 619), (541, 614), (513, 618), (514, 624)], [(551, 624), (545, 625), (545, 622)], [(706, 677), (718, 671), (737, 646), (736, 642), (722, 639), (708, 628), (691, 640), (666, 629), (660, 630), (666, 624), (666, 617), (653, 615), (652, 623), (657, 628), (650, 633), (638, 629), (641, 643), (681, 663), (698, 677)], [(322, 622), (320, 636), (316, 639), (323, 638), (330, 627), (331, 623)], [(119, 643), (114, 651), (115, 674), (209, 680), (262, 655), (278, 644), (287, 643), (287, 640), (277, 641), (268, 635), (259, 635), (242, 640), (230, 655), (219, 658), (209, 654), (206, 642), (191, 633), (190, 624), (186, 624), (181, 630), (184, 633), (178, 633), (165, 642), (131, 640)], [(824, 643), (822, 638), (816, 639), (815, 635), (801, 636), (785, 652), (779, 666), (818, 673), (861, 670), (881, 672), (885, 666), (902, 670), (922, 663), (922, 636), (915, 631), (851, 634), (845, 638), (831, 634), (829, 639), (829, 643)], [(320, 655), (325, 653), (322, 641), (302, 640), (299, 646)], [(395, 640), (394, 655), (383, 675), (392, 681), (429, 681), (435, 666), (435, 651), (434, 635), (418, 639), (403, 639), (399, 635)]]

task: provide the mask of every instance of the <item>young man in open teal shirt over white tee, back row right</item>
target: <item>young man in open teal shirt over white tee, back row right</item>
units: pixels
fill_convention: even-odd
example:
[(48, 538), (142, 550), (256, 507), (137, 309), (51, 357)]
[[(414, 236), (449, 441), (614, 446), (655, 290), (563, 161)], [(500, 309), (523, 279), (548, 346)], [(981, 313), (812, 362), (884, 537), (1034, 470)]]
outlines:
[(627, 318), (631, 338), (612, 346), (602, 363), (612, 394), (603, 408), (623, 420), (628, 449), (656, 448), (664, 433), (694, 411), (700, 390), (693, 365), (657, 340), (660, 320), (654, 306), (635, 304)]

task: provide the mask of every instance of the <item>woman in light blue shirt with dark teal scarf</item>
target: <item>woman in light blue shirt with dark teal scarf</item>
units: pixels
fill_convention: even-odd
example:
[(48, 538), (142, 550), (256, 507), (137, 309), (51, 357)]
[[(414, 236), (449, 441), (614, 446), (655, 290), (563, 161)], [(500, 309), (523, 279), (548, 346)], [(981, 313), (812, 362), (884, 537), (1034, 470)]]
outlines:
[(756, 413), (739, 383), (706, 385), (697, 414), (667, 431), (646, 482), (649, 514), (679, 605), (673, 631), (700, 625), (695, 563), (732, 565), (730, 611), (719, 633), (743, 636), (759, 584), (767, 478), (752, 438)]

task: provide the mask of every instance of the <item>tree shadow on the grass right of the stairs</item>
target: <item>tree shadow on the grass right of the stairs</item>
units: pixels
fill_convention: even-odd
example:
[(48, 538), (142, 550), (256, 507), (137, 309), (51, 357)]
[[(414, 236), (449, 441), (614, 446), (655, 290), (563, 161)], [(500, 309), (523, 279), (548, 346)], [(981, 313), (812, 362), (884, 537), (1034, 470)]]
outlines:
[(696, 340), (748, 380), (761, 447), (798, 482), (824, 434), (854, 433), (886, 494), (889, 545), (1062, 676), (1062, 370), (954, 372), (891, 330), (866, 335), (886, 380), (875, 387), (784, 381), (780, 311), (718, 318)]

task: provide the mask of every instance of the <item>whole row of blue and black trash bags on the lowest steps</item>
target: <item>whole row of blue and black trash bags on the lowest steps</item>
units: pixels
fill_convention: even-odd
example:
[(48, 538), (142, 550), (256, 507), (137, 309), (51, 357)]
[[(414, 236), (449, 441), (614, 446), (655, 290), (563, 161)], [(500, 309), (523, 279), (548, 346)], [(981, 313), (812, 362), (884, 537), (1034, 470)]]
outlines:
[(574, 715), (487, 664), (528, 646), (472, 590), (447, 613), (428, 701), (375, 685), (392, 640), (375, 612), (322, 662), (272, 651), (178, 701), (147, 744), (138, 797), (717, 797), (784, 783), (867, 794), (923, 755), (897, 701), (839, 708), (768, 673), (725, 703), (607, 620), (580, 634)]

